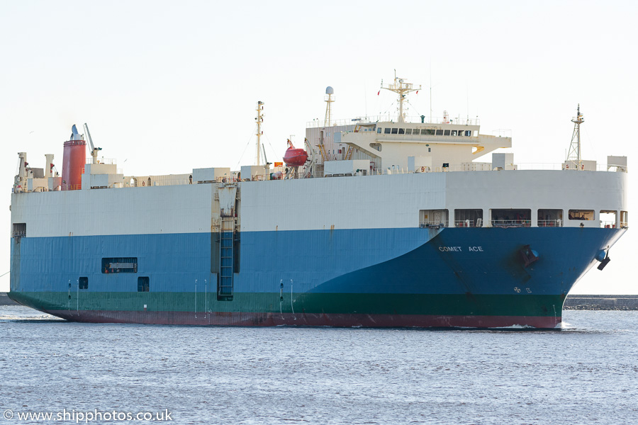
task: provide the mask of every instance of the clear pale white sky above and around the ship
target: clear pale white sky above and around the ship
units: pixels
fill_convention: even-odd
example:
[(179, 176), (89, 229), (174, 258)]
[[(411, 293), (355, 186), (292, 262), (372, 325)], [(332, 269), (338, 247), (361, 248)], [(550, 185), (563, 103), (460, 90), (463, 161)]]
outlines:
[[(127, 175), (237, 169), (263, 101), (272, 162), (323, 119), (326, 86), (333, 118), (394, 111), (377, 96), (394, 69), (423, 86), (410, 115), (430, 114), (431, 78), (433, 115), (510, 130), (519, 164), (562, 162), (580, 103), (583, 158), (627, 155), (633, 171), (637, 16), (634, 1), (0, 1), (0, 274), (17, 152), (61, 171), (71, 126), (89, 123)], [(638, 293), (634, 232), (572, 292)]]

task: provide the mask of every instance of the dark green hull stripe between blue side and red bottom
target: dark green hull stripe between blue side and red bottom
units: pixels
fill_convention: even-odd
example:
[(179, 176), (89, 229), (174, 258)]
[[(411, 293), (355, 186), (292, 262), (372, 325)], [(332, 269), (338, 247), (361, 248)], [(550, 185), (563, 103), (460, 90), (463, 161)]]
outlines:
[(486, 316), (560, 316), (564, 295), (427, 295), (344, 293), (235, 293), (217, 300), (216, 293), (9, 293), (37, 310), (110, 310), (156, 312), (281, 312), (325, 314), (442, 314)]

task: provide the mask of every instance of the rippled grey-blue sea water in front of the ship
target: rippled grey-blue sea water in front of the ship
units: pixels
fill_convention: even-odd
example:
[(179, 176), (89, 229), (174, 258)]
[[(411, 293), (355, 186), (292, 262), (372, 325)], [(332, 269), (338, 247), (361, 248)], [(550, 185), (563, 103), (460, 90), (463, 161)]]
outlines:
[(174, 424), (637, 424), (638, 312), (564, 321), (254, 329), (78, 324), (0, 307), (0, 415), (13, 414), (0, 421), (167, 409)]

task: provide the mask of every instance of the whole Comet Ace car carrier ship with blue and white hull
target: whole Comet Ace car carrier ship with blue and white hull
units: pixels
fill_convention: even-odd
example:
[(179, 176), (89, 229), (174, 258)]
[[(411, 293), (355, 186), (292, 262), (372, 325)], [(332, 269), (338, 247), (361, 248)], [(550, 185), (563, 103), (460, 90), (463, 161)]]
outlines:
[[(11, 291), (77, 322), (554, 328), (571, 287), (627, 231), (627, 158), (522, 169), (478, 120), (308, 123), (285, 162), (127, 176), (88, 126), (62, 175), (18, 154)], [(86, 158), (87, 144), (90, 157)], [(478, 159), (491, 153), (491, 161)], [(264, 158), (262, 158), (262, 156)], [(598, 272), (597, 272), (598, 273)]]

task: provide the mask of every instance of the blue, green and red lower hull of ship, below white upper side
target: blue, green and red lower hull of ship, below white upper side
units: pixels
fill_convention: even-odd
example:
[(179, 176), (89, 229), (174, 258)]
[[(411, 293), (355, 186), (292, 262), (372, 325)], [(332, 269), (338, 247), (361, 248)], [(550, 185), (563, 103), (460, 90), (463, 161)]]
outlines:
[[(244, 232), (232, 300), (218, 298), (211, 234), (22, 238), (12, 242), (9, 296), (78, 322), (553, 328), (573, 283), (623, 232)], [(526, 245), (539, 253), (528, 266)], [(137, 273), (101, 273), (113, 253), (138, 258)], [(149, 292), (137, 292), (139, 276)]]

